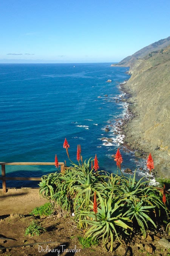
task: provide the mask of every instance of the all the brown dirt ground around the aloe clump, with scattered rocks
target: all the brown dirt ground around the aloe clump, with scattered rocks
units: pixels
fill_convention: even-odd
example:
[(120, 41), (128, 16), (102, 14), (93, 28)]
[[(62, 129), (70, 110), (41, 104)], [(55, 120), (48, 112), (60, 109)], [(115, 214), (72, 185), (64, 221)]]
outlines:
[[(100, 245), (82, 248), (77, 236), (83, 236), (83, 231), (77, 229), (71, 217), (66, 218), (59, 214), (37, 218), (37, 221), (46, 228), (46, 232), (40, 236), (25, 236), (26, 228), (32, 220), (35, 220), (29, 212), (44, 203), (46, 199), (40, 198), (38, 189), (8, 189), (7, 193), (0, 190), (0, 249), (2, 248), (0, 254), (4, 256), (170, 256), (170, 249), (158, 243), (163, 237), (160, 232), (155, 236), (148, 236), (145, 240), (142, 240), (141, 236), (136, 236), (128, 246), (115, 242), (113, 253), (106, 252)], [(165, 234), (164, 237), (167, 239)], [(11, 240), (8, 240), (9, 238)], [(53, 249), (56, 252), (50, 253), (49, 250)]]

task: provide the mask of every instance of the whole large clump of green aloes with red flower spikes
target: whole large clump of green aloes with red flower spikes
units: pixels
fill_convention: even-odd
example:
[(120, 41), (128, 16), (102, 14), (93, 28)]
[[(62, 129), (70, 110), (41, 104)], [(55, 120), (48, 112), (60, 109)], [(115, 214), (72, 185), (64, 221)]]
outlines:
[[(63, 147), (70, 160), (66, 139)], [(121, 242), (121, 235), (129, 235), (129, 231), (140, 228), (146, 236), (149, 224), (156, 228), (159, 216), (164, 216), (168, 223), (167, 206), (162, 203), (156, 188), (150, 186), (144, 177), (136, 181), (136, 171), (133, 177), (99, 171), (97, 156), (83, 162), (80, 152), (78, 145), (78, 164), (71, 162), (72, 166), (64, 174), (42, 176), (39, 186), (40, 195), (54, 201), (63, 210), (74, 212), (77, 226), (87, 231), (85, 237), (102, 238), (104, 247), (110, 244), (113, 251), (113, 242)], [(121, 163), (118, 164), (120, 167)]]

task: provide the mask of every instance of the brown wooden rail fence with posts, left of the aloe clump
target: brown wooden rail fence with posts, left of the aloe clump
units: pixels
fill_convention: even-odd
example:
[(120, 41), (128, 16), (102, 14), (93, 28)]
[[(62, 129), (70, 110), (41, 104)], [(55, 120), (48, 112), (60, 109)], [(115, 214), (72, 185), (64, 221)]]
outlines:
[[(0, 176), (0, 180), (2, 180), (2, 190), (6, 193), (6, 181), (40, 181), (41, 177), (6, 177), (5, 173), (5, 165), (55, 165), (54, 162), (13, 162), (6, 163), (0, 162), (2, 176)], [(65, 165), (63, 162), (59, 163), (60, 171), (63, 173)]]

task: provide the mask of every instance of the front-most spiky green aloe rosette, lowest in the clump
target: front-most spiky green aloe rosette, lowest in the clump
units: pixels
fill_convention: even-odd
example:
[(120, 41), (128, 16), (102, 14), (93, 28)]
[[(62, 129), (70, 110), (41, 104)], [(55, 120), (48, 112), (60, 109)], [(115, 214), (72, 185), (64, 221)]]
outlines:
[[(104, 247), (110, 243), (110, 250), (113, 251), (113, 242), (115, 239), (119, 239), (119, 234), (126, 232), (127, 229), (131, 229), (131, 220), (128, 217), (123, 216), (122, 204), (114, 202), (113, 192), (110, 193), (108, 199), (103, 199), (100, 193), (97, 192), (99, 198), (99, 207), (97, 208), (97, 214), (93, 212), (82, 211), (80, 215), (86, 216), (89, 219), (82, 220), (90, 225), (90, 229), (85, 234), (85, 237), (92, 237), (93, 239), (102, 238)], [(93, 206), (91, 206), (92, 208)], [(97, 218), (97, 221), (95, 220)]]

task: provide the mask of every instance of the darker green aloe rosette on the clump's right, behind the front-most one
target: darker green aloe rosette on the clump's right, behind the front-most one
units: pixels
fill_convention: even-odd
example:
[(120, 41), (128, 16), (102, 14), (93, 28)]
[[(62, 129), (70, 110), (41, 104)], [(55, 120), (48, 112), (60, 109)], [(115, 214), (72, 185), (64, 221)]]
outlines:
[(160, 215), (164, 206), (156, 195), (157, 190), (149, 186), (148, 181), (142, 181), (143, 178), (136, 181), (135, 174), (136, 171), (133, 179), (130, 177), (122, 180), (121, 188), (118, 190), (118, 202), (124, 202), (124, 216), (130, 218), (133, 223), (137, 222), (141, 232), (146, 236), (148, 223), (156, 228), (156, 217)]

